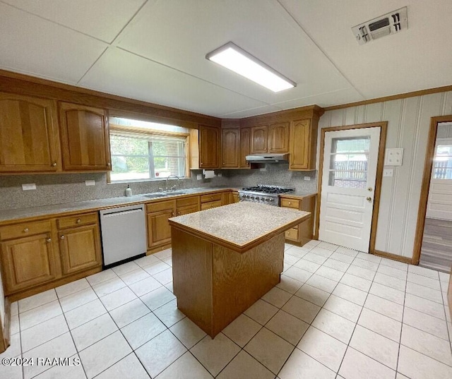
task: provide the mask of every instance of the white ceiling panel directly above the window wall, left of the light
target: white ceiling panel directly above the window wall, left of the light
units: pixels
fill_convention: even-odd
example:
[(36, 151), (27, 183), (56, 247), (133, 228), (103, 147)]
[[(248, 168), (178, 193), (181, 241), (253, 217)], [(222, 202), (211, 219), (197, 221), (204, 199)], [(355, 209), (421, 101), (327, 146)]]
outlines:
[(79, 84), (212, 116), (265, 105), (117, 48), (109, 48)]

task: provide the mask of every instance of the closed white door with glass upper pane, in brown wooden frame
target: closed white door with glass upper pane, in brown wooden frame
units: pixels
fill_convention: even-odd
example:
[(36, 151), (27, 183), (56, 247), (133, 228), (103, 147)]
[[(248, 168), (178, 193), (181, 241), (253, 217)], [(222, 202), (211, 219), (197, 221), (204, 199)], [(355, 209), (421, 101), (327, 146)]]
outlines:
[(369, 253), (380, 127), (325, 133), (319, 239)]

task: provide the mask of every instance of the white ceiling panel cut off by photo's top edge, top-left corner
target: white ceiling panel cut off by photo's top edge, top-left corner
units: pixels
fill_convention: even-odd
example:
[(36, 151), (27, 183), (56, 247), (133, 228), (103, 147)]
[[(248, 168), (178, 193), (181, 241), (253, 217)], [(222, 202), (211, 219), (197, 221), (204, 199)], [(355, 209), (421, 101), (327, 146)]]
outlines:
[(4, 0), (55, 23), (112, 42), (145, 0)]

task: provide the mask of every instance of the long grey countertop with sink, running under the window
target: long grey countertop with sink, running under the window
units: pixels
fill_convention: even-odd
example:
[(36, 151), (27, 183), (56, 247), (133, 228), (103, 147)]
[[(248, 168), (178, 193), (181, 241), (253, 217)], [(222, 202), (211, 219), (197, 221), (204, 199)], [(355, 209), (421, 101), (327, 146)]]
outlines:
[[(120, 207), (121, 205), (131, 205), (138, 203), (150, 203), (153, 201), (160, 201), (166, 198), (176, 198), (178, 196), (186, 195), (200, 195), (203, 193), (209, 193), (213, 191), (228, 191), (235, 190), (236, 188), (230, 187), (201, 187), (201, 188), (187, 188), (181, 189), (177, 192), (184, 192), (179, 195), (165, 195), (160, 198), (145, 198), (141, 195), (133, 196), (120, 196), (117, 198), (105, 198), (97, 200), (76, 201), (74, 203), (56, 204), (56, 205), (44, 205), (40, 207), (28, 207), (12, 210), (0, 210), (0, 223), (11, 222), (17, 219), (27, 219), (31, 217), (41, 217), (49, 215), (61, 215), (64, 213), (84, 212), (86, 210), (101, 210), (110, 207)], [(171, 192), (168, 192), (169, 194)]]

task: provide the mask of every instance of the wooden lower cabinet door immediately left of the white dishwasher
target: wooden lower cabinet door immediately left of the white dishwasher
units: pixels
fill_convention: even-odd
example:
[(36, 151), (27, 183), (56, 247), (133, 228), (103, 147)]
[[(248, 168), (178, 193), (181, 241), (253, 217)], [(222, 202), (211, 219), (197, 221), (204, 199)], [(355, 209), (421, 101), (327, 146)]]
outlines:
[(97, 224), (62, 230), (58, 236), (64, 275), (102, 265)]

